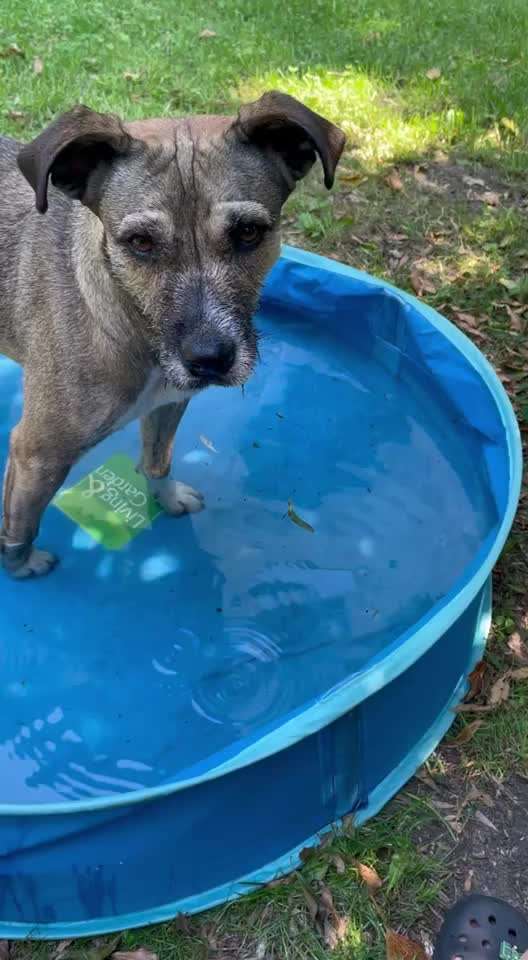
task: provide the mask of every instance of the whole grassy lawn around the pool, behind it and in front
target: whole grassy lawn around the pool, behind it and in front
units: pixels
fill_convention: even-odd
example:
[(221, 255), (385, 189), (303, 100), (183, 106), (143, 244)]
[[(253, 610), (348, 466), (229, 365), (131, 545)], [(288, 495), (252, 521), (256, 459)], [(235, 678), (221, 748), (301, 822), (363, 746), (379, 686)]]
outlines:
[[(425, 278), (427, 300), (499, 370), (525, 437), (527, 34), (525, 0), (11, 0), (0, 23), (2, 129), (27, 139), (78, 101), (134, 118), (233, 110), (269, 87), (302, 98), (346, 130), (349, 147), (332, 195), (314, 175), (292, 198), (287, 239), (403, 287)], [(495, 576), (490, 682), (511, 666), (510, 635), (528, 631), (527, 529), (523, 499)], [(457, 754), (460, 775), (528, 774), (528, 686), (515, 684), (483, 721)], [(404, 799), (335, 837), (287, 884), (126, 933), (122, 949), (145, 943), (160, 960), (324, 960), (309, 897), (326, 885), (350, 918), (334, 956), (381, 960), (384, 929), (425, 922), (441, 898), (449, 869), (416, 839), (439, 829), (432, 806)], [(356, 861), (384, 879), (375, 898)], [(93, 945), (72, 955), (91, 956)], [(46, 945), (15, 950), (48, 956)]]

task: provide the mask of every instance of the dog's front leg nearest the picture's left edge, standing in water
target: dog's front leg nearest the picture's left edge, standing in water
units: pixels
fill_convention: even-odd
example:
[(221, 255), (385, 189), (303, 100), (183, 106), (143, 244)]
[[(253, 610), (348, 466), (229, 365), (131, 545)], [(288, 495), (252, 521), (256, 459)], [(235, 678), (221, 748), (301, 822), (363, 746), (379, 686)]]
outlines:
[(53, 445), (25, 435), (23, 424), (15, 427), (9, 445), (4, 477), (4, 516), (0, 534), (2, 565), (17, 580), (49, 573), (56, 558), (37, 550), (40, 518), (75, 458), (67, 458)]

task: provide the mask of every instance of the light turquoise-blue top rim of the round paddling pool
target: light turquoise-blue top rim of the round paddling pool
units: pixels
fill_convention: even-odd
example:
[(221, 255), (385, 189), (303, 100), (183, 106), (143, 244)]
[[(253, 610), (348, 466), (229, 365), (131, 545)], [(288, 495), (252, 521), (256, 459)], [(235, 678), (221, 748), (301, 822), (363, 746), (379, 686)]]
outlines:
[[(95, 797), (89, 800), (53, 801), (41, 804), (0, 803), (0, 816), (62, 816), (128, 807), (169, 796), (180, 790), (187, 790), (198, 784), (226, 776), (291, 747), (299, 740), (328, 726), (409, 669), (459, 619), (489, 579), (510, 532), (522, 481), (522, 446), (519, 426), (508, 395), (493, 367), (465, 334), (432, 307), (413, 297), (412, 294), (368, 273), (295, 247), (283, 246), (281, 259), (305, 265), (312, 269), (348, 276), (351, 280), (359, 281), (365, 286), (371, 285), (373, 293), (389, 292), (391, 296), (396, 297), (404, 305), (410, 305), (418, 309), (427, 322), (434, 326), (479, 374), (499, 412), (506, 437), (510, 465), (506, 509), (485, 559), (478, 570), (456, 593), (454, 593), (457, 584), (457, 581), (455, 581), (451, 588), (454, 593), (451, 599), (422, 624), (415, 633), (412, 633), (401, 646), (394, 644), (393, 649), (386, 656), (381, 657), (364, 672), (359, 675), (349, 675), (339, 685), (325, 693), (315, 704), (305, 710), (299, 710), (294, 717), (243, 748), (235, 756), (217, 767), (212, 767), (194, 777), (169, 781), (155, 787), (132, 790), (118, 795)], [(463, 580), (463, 578), (464, 574), (461, 574), (458, 580)]]

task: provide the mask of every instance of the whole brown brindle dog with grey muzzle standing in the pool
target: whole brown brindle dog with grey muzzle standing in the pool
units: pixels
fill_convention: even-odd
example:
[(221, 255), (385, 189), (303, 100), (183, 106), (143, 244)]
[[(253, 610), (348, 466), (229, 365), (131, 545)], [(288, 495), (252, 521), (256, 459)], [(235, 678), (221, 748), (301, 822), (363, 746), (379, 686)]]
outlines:
[(198, 391), (250, 376), (281, 208), (317, 156), (332, 187), (344, 144), (276, 91), (236, 117), (125, 123), (78, 106), (28, 144), (0, 137), (0, 353), (24, 368), (0, 534), (12, 577), (53, 568), (34, 546), (43, 511), (133, 419), (162, 508), (203, 507), (170, 478), (178, 423)]

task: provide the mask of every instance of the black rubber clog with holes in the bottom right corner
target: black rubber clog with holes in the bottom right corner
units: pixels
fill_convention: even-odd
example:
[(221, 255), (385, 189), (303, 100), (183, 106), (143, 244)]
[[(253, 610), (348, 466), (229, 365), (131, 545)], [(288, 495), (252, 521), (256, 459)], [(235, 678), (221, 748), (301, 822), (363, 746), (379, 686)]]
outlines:
[(520, 960), (528, 950), (528, 921), (504, 900), (475, 894), (447, 914), (433, 960)]

